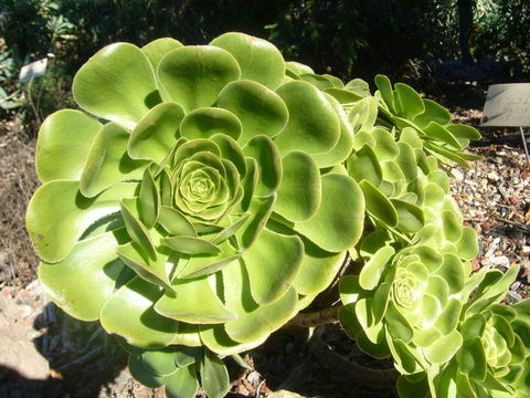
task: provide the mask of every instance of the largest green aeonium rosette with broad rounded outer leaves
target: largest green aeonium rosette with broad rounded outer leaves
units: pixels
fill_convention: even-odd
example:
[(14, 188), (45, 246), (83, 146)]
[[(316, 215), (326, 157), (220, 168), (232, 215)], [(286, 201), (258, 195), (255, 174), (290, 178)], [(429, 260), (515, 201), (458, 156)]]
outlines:
[(333, 279), (364, 201), (339, 104), (271, 43), (112, 44), (76, 74), (94, 118), (43, 124), (28, 231), (47, 294), (132, 346), (263, 342)]

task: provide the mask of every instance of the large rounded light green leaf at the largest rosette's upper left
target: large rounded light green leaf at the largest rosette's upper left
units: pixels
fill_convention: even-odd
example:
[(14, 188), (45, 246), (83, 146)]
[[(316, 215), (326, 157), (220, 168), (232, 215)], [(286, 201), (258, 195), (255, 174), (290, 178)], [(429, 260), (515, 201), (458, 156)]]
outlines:
[(92, 56), (76, 73), (72, 92), (86, 111), (127, 128), (160, 101), (148, 57), (128, 43), (107, 45)]

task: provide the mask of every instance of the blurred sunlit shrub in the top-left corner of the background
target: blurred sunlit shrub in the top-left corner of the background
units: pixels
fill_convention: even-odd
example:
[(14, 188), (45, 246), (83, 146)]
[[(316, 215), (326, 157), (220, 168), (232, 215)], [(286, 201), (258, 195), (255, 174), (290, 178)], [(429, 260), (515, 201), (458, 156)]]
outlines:
[[(0, 115), (15, 115), (30, 135), (47, 114), (72, 102), (66, 94), (72, 80), (63, 69), (68, 55), (62, 49), (75, 39), (73, 28), (57, 1), (11, 0), (0, 6)], [(19, 82), (24, 64), (44, 57), (51, 60), (45, 76)]]

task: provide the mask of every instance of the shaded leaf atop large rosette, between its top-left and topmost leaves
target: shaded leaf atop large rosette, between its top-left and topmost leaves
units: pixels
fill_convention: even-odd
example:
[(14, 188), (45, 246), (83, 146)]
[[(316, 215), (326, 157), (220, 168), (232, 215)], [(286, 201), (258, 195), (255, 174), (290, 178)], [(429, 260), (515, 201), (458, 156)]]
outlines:
[(237, 61), (212, 45), (182, 46), (158, 65), (158, 77), (167, 95), (186, 112), (212, 106), (219, 92), (241, 75)]

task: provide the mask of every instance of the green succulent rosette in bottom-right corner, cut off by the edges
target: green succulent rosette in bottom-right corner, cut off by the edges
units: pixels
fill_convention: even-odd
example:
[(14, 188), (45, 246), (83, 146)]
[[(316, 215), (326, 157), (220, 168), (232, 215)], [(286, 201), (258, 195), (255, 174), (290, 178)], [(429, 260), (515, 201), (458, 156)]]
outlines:
[(475, 294), (460, 313), (462, 344), (456, 355), (437, 368), (402, 376), (403, 397), (527, 397), (530, 360), (530, 300), (499, 303), (518, 266), (505, 274), (483, 271), (470, 279)]

